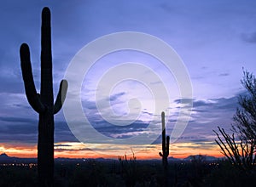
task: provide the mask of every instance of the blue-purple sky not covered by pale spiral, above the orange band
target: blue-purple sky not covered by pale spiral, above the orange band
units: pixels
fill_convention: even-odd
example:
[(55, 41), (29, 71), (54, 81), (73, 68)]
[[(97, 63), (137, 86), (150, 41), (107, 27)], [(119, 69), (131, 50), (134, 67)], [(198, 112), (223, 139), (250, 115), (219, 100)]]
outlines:
[[(194, 108), (189, 125), (178, 141), (203, 146), (214, 139), (213, 128), (230, 127), (237, 95), (243, 92), (242, 67), (256, 71), (255, 1), (9, 0), (2, 1), (0, 6), (0, 144), (37, 142), (38, 115), (24, 94), (19, 48), (22, 42), (30, 46), (33, 76), (39, 91), (41, 10), (45, 6), (52, 14), (55, 95), (70, 61), (88, 42), (118, 31), (145, 32), (172, 46), (191, 78)], [(125, 138), (144, 132), (154, 116), (153, 98), (145, 86), (130, 80), (114, 88), (110, 98), (101, 98), (109, 99), (118, 115), (132, 112), (127, 108), (127, 99), (142, 100), (140, 117), (127, 127), (104, 121), (93, 97), (102, 73), (128, 61), (149, 66), (168, 85), (172, 117), (167, 132), (171, 133), (177, 111), (183, 107), (178, 88), (173, 86), (175, 79), (168, 77), (159, 62), (146, 54), (123, 52), (99, 60), (84, 77), (81, 88), (85, 114), (99, 132), (109, 137)], [(108, 115), (108, 108), (104, 112)], [(55, 142), (71, 141), (78, 140), (61, 111), (55, 116)], [(155, 141), (159, 142), (159, 139)]]

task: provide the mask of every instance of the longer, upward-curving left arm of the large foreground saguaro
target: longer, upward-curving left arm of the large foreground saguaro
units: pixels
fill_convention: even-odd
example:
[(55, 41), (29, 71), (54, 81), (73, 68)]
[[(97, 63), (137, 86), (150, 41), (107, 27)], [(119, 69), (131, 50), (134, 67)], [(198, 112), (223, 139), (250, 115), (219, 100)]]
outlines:
[(43, 113), (46, 108), (40, 99), (40, 95), (37, 94), (32, 76), (29, 47), (26, 43), (20, 46), (20, 65), (28, 103), (32, 106), (33, 110)]

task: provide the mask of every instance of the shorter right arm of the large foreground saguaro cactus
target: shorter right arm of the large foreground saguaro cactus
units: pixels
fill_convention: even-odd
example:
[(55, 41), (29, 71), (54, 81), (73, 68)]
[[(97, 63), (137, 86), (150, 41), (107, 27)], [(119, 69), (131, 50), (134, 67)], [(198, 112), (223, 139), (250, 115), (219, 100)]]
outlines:
[(62, 80), (60, 83), (59, 93), (55, 100), (54, 114), (58, 113), (61, 110), (62, 104), (64, 103), (64, 100), (66, 99), (66, 94), (67, 94), (67, 81)]

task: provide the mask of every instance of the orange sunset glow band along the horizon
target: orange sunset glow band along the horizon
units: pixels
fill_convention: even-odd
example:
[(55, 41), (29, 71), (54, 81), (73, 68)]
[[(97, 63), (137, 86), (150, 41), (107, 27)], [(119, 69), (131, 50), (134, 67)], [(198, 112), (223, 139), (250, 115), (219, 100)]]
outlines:
[[(205, 142), (204, 144), (191, 144), (191, 143), (175, 143), (171, 144), (170, 155), (175, 158), (185, 158), (191, 155), (207, 155), (222, 157), (217, 144), (211, 144), (211, 146)], [(207, 144), (207, 146), (206, 146)], [(96, 149), (102, 149), (101, 151), (86, 149), (84, 144), (79, 142), (60, 142), (55, 144), (55, 158), (112, 158), (117, 159), (119, 156), (132, 157), (132, 152), (137, 159), (160, 159), (159, 152), (161, 151), (160, 144), (150, 144), (147, 146), (139, 145), (137, 147), (128, 147), (127, 145), (112, 145), (111, 144), (96, 144)], [(63, 146), (62, 146), (63, 145)], [(146, 148), (143, 148), (146, 147)], [(110, 150), (108, 150), (110, 148)], [(116, 149), (116, 150), (115, 150)], [(108, 152), (107, 152), (108, 151)], [(105, 154), (108, 153), (108, 154)], [(0, 154), (6, 153), (8, 156), (15, 157), (37, 157), (38, 150), (36, 144), (0, 144)]]

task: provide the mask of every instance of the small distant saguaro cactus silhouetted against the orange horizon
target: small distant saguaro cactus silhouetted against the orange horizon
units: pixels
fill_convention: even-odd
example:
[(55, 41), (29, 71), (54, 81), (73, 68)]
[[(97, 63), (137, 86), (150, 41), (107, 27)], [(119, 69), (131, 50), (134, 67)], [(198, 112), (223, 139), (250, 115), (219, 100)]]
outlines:
[(166, 137), (166, 122), (165, 122), (165, 112), (161, 113), (162, 120), (162, 153), (159, 152), (159, 155), (162, 157), (163, 166), (167, 167), (168, 165), (168, 156), (169, 156), (169, 144), (170, 137)]

